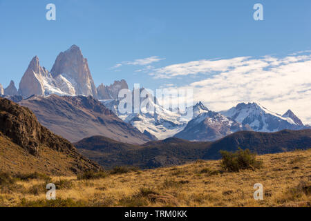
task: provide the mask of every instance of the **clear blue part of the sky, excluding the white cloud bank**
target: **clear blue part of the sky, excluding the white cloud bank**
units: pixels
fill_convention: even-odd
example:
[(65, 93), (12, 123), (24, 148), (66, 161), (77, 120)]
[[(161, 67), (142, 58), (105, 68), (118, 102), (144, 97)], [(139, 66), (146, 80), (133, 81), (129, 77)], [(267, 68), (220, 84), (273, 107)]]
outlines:
[[(56, 5), (56, 21), (46, 20), (48, 3)], [(255, 3), (263, 4), (264, 21), (254, 21)], [(208, 71), (194, 75), (169, 77), (159, 77), (159, 71), (190, 61), (230, 61), (235, 57), (251, 57), (253, 61), (267, 55), (284, 59), (290, 54), (295, 57), (296, 52), (311, 50), (310, 22), (310, 0), (0, 0), (0, 83), (6, 87), (13, 79), (18, 85), (35, 55), (41, 66), (50, 70), (59, 52), (76, 44), (88, 59), (97, 86), (111, 84), (115, 79), (126, 79), (131, 87), (140, 83), (152, 89), (198, 85), (199, 81), (220, 75), (222, 70), (207, 68)], [(144, 59), (150, 57), (146, 64)], [(305, 87), (310, 91), (310, 86)], [(303, 102), (308, 102), (308, 95), (304, 95), (307, 100)], [(275, 103), (265, 95), (243, 95), (225, 104), (209, 99), (205, 102), (220, 109), (246, 98), (269, 100), (267, 105)], [(295, 105), (284, 103), (275, 111)], [(296, 109), (311, 122), (306, 111)]]

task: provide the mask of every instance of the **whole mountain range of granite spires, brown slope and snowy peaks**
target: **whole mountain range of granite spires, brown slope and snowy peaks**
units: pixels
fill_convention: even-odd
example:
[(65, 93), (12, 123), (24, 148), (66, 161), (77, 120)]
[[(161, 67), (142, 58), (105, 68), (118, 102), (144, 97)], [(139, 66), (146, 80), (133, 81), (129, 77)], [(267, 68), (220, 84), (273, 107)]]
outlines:
[[(104, 135), (131, 144), (174, 136), (191, 141), (215, 141), (237, 131), (276, 132), (310, 128), (290, 110), (279, 115), (256, 103), (241, 103), (217, 113), (198, 102), (187, 108), (193, 112), (189, 119), (179, 111), (164, 108), (156, 97), (144, 93), (144, 88), (133, 89), (131, 93), (146, 95), (140, 97), (140, 103), (147, 102), (154, 111), (134, 112), (133, 109), (132, 113), (120, 113), (118, 93), (122, 89), (129, 90), (124, 79), (110, 86), (100, 84), (96, 88), (87, 59), (82, 50), (73, 45), (59, 53), (50, 71), (42, 67), (35, 56), (21, 78), (19, 89), (14, 81), (7, 88), (0, 84), (0, 95), (28, 106), (41, 124), (71, 142), (91, 135)], [(86, 99), (82, 102), (79, 96), (93, 97), (91, 103), (95, 106), (85, 106)], [(97, 99), (113, 114), (102, 111), (98, 116), (94, 109), (100, 105)]]

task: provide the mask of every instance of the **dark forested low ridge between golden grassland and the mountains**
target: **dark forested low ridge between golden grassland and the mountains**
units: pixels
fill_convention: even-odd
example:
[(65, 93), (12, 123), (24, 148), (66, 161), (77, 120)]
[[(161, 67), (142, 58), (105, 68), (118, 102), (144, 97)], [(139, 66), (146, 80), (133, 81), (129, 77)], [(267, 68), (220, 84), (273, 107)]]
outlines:
[[(148, 142), (140, 146), (123, 148), (111, 154), (101, 153), (100, 142), (93, 150), (93, 137), (88, 142), (75, 143), (80, 153), (98, 162), (105, 168), (113, 166), (138, 166), (141, 169), (173, 166), (195, 160), (218, 160), (220, 150), (237, 151), (239, 147), (249, 148), (258, 154), (280, 153), (295, 149), (311, 148), (311, 130), (283, 130), (275, 133), (238, 131), (215, 142), (190, 142), (177, 137)], [(115, 142), (114, 142), (115, 143)], [(110, 148), (114, 144), (109, 144)], [(106, 143), (102, 144), (106, 148)]]

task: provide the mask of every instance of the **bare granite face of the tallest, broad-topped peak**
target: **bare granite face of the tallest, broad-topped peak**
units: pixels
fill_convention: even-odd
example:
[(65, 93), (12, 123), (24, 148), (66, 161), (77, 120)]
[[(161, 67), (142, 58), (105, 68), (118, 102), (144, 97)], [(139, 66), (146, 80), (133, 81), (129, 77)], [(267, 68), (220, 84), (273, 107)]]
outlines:
[(76, 95), (91, 95), (97, 98), (97, 90), (88, 68), (88, 61), (82, 55), (78, 46), (71, 46), (65, 52), (61, 52), (51, 70), (56, 79), (62, 75), (72, 84)]

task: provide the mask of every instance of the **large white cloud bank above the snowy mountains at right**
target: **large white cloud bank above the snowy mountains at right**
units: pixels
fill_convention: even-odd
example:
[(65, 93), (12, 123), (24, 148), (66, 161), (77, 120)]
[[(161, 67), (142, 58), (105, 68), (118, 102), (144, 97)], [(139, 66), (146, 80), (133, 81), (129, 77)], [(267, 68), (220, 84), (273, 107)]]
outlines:
[(311, 124), (311, 55), (191, 61), (158, 68), (151, 75), (175, 79), (199, 73), (207, 77), (181, 88), (192, 88), (194, 99), (214, 111), (258, 102), (280, 114), (291, 109)]

